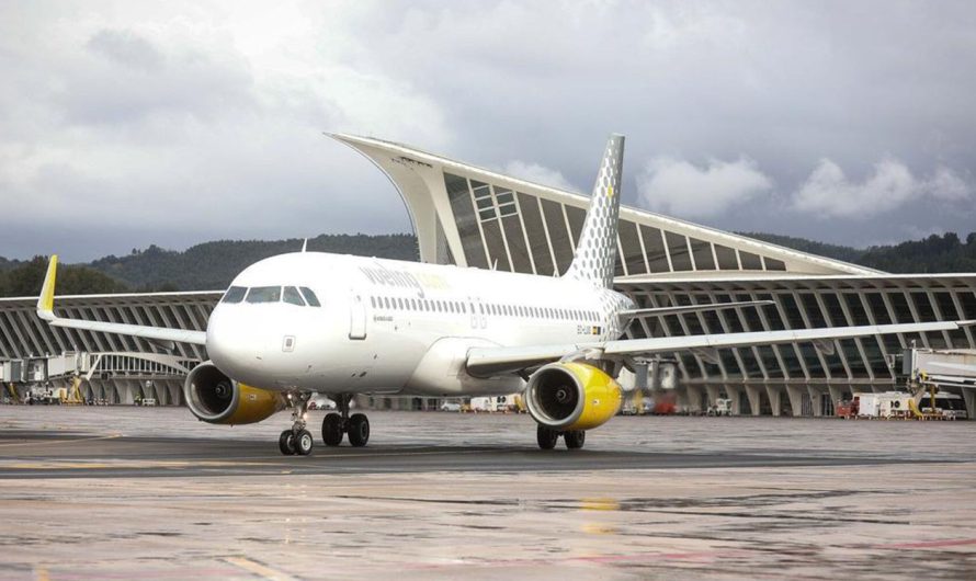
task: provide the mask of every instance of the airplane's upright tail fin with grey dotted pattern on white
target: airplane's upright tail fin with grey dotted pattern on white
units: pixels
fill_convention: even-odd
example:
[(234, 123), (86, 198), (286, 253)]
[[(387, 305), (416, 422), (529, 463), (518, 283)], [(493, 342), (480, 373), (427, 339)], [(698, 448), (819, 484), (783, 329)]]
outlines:
[(606, 141), (600, 173), (593, 185), (590, 209), (576, 247), (567, 278), (587, 281), (595, 286), (613, 285), (616, 262), (616, 230), (621, 207), (621, 170), (624, 160), (624, 136), (612, 134)]

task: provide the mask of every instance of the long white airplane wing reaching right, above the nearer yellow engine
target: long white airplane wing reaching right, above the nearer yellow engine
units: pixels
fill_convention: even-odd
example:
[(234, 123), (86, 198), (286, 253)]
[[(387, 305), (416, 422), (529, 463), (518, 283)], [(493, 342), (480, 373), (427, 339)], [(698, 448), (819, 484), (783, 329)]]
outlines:
[(661, 337), (651, 339), (624, 339), (590, 343), (530, 345), (520, 348), (474, 348), (468, 351), (467, 372), (476, 377), (487, 377), (559, 361), (579, 355), (582, 360), (642, 357), (676, 351), (707, 350), (772, 345), (803, 341), (829, 341), (890, 333), (922, 333), (928, 331), (954, 331), (976, 324), (974, 321), (920, 322), (905, 324), (870, 324), (863, 327), (828, 327), (795, 331), (764, 331), (748, 333), (699, 334)]

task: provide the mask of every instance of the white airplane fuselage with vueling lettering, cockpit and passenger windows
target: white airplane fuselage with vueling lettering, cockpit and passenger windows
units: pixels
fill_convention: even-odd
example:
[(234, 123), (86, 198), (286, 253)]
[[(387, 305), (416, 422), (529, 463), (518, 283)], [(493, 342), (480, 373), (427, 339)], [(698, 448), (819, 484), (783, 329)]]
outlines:
[(468, 349), (616, 339), (617, 310), (633, 307), (572, 280), (318, 252), (260, 261), (235, 288), (247, 294), (225, 296), (207, 324), (214, 364), (248, 385), (325, 394), (510, 394), (522, 379), (469, 376)]

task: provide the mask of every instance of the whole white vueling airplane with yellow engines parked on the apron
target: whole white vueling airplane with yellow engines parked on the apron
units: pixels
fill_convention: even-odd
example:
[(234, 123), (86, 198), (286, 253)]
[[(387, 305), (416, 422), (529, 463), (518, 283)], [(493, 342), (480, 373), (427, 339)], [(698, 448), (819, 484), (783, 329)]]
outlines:
[(190, 410), (220, 424), (259, 422), (293, 408), (283, 454), (307, 455), (314, 392), (338, 412), (322, 420), (326, 445), (348, 434), (370, 440), (370, 422), (350, 415), (355, 394), (472, 397), (524, 392), (540, 447), (563, 436), (580, 448), (586, 431), (621, 406), (614, 379), (635, 358), (682, 350), (828, 341), (883, 333), (954, 330), (976, 321), (825, 328), (621, 340), (637, 316), (771, 301), (637, 309), (614, 292), (624, 138), (611, 136), (576, 255), (560, 277), (320, 252), (262, 260), (231, 283), (206, 332), (66, 319), (54, 312), (52, 257), (37, 314), (56, 327), (139, 337), (162, 346), (205, 345), (211, 361), (186, 377)]

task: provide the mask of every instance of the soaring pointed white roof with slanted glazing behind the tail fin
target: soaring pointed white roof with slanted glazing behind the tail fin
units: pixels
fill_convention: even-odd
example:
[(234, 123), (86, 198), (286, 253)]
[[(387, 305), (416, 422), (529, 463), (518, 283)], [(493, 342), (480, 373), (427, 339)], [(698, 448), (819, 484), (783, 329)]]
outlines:
[[(333, 135), (379, 168), (402, 196), (424, 262), (561, 274), (589, 197), (371, 137)], [(660, 214), (621, 208), (617, 277), (728, 272), (877, 271)]]

